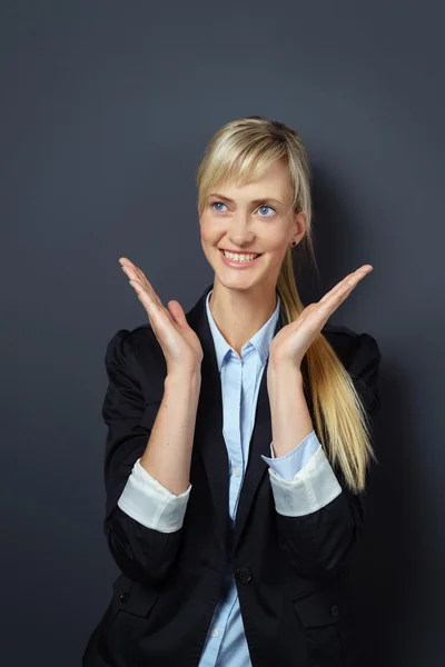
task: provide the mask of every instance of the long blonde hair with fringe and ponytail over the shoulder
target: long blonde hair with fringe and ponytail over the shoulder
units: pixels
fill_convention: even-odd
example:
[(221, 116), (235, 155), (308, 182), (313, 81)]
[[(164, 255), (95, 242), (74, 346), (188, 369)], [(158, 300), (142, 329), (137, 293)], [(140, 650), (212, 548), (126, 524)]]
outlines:
[[(228, 122), (216, 132), (197, 170), (199, 216), (214, 186), (233, 177), (243, 186), (277, 159), (284, 159), (288, 166), (295, 212), (303, 211), (306, 216), (306, 233), (299, 246), (304, 252), (308, 251), (318, 271), (312, 229), (312, 177), (307, 152), (298, 132), (280, 122), (254, 116)], [(277, 291), (287, 322), (296, 320), (305, 306), (295, 281), (290, 247), (280, 267)], [(377, 458), (360, 396), (322, 332), (308, 348), (306, 362), (315, 428), (323, 449), (329, 461), (340, 467), (350, 490), (363, 491), (369, 458)]]

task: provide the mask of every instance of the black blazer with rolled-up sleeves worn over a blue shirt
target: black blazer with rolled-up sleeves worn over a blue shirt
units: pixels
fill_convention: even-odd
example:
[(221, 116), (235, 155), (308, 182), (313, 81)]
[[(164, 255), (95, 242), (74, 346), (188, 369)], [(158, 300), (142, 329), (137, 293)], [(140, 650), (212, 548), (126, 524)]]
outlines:
[[(299, 517), (276, 511), (268, 466), (260, 457), (270, 455), (271, 441), (267, 366), (235, 527), (230, 528), (222, 397), (205, 303), (211, 287), (187, 313), (204, 360), (192, 488), (184, 525), (176, 532), (147, 528), (117, 505), (134, 464), (146, 449), (162, 399), (167, 372), (162, 350), (148, 323), (132, 331), (120, 329), (108, 344), (103, 526), (121, 575), (89, 638), (82, 666), (197, 667), (226, 568), (237, 581), (254, 667), (358, 666), (348, 566), (363, 522), (363, 495), (350, 492), (335, 469), (343, 491), (327, 506)], [(283, 326), (281, 308), (275, 332)], [(376, 340), (329, 323), (323, 334), (373, 415), (378, 407), (380, 360)], [(307, 381), (305, 362), (301, 372)], [(315, 426), (308, 394), (306, 400)]]

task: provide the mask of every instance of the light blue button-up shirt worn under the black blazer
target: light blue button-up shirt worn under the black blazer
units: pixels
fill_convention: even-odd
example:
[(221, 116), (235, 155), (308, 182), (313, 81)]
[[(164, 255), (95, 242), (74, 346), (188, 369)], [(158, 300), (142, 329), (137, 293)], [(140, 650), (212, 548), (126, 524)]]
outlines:
[[(235, 521), (249, 456), (259, 385), (279, 316), (280, 299), (277, 293), (274, 313), (243, 346), (240, 358), (215, 323), (209, 307), (211, 292), (212, 290), (207, 295), (206, 309), (221, 378), (222, 434), (229, 457), (229, 512)], [(275, 458), (270, 445), (270, 458), (261, 458), (281, 477), (290, 480), (319, 447), (319, 440), (313, 430), (288, 454)], [(251, 667), (233, 573), (227, 575), (226, 588), (215, 609), (199, 667)]]

